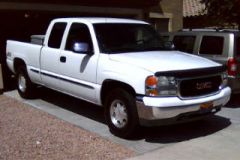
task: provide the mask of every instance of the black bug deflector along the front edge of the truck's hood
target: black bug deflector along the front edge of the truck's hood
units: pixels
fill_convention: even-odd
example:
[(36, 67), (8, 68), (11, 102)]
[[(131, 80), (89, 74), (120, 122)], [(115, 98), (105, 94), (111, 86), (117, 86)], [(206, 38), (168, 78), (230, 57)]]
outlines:
[(219, 67), (210, 67), (210, 68), (157, 72), (155, 73), (155, 76), (174, 76), (176, 78), (201, 77), (205, 75), (219, 74), (226, 70), (227, 70), (227, 66), (222, 65)]

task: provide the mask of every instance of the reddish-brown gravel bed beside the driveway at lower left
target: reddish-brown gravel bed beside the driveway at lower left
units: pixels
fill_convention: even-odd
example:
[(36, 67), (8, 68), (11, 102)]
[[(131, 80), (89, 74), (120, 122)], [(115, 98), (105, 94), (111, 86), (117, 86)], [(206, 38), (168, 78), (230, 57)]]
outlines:
[(17, 100), (0, 96), (0, 159), (126, 159), (135, 153)]

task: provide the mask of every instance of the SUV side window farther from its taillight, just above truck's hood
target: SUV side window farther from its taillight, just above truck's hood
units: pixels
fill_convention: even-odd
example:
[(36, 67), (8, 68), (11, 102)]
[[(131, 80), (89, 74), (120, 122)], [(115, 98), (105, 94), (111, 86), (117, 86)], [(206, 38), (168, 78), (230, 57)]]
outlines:
[(179, 51), (193, 53), (196, 36), (175, 36), (173, 43)]

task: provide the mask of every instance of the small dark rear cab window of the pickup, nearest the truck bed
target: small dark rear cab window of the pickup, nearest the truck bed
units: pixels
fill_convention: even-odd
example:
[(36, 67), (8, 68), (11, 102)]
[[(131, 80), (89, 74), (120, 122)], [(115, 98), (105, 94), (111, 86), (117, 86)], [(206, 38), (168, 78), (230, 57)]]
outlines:
[(66, 23), (55, 23), (49, 36), (48, 46), (51, 48), (60, 48), (62, 37), (65, 31)]

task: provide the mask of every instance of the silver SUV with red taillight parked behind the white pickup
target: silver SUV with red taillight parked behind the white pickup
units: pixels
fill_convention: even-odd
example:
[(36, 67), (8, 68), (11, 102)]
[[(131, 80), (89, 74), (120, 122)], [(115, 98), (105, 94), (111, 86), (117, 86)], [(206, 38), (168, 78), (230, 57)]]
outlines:
[(239, 30), (184, 29), (160, 35), (164, 40), (172, 41), (176, 50), (197, 54), (227, 65), (229, 86), (233, 93), (240, 93)]

